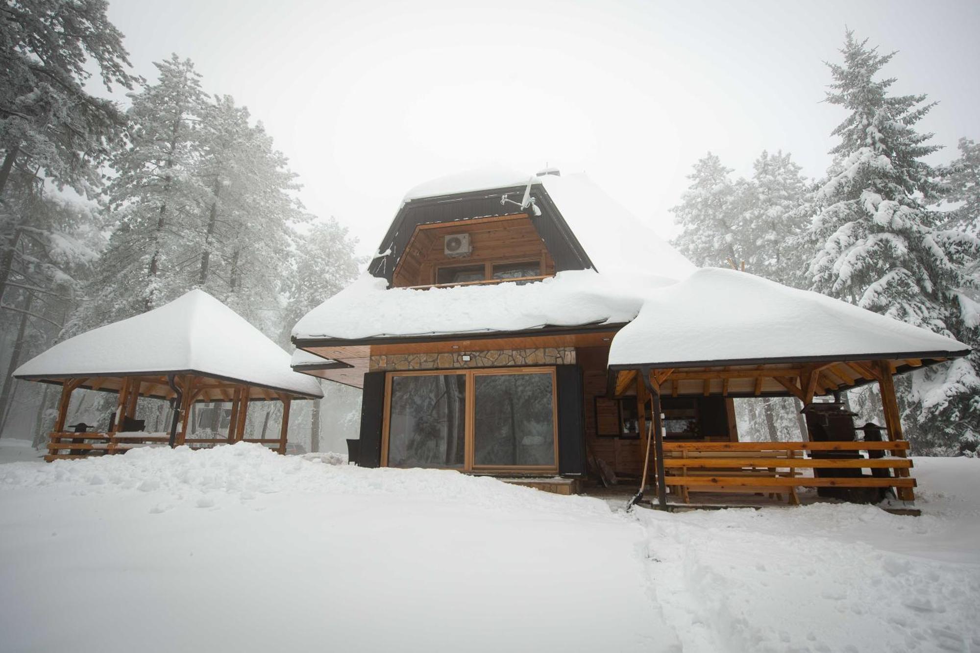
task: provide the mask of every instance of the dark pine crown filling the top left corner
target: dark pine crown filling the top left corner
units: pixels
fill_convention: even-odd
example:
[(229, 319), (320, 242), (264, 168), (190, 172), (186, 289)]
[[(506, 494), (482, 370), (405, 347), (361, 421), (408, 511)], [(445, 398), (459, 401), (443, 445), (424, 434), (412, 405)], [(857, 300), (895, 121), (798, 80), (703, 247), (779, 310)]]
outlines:
[(107, 88), (131, 88), (123, 34), (105, 0), (14, 0), (0, 9), (0, 197), (15, 170), (85, 192), (124, 125), (109, 100), (84, 89), (92, 60)]

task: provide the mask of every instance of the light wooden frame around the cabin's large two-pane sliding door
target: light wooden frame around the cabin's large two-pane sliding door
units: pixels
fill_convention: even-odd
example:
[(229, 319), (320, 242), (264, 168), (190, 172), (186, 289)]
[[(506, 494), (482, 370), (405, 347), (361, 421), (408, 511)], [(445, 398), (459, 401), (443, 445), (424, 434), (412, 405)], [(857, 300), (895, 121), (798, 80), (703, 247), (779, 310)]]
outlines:
[[(475, 436), (476, 436), (476, 381), (479, 376), (529, 375), (547, 374), (552, 382), (552, 428), (555, 444), (554, 465), (474, 465)], [(558, 427), (558, 375), (555, 366), (514, 367), (514, 368), (478, 368), (456, 370), (406, 370), (389, 372), (384, 376), (384, 414), (381, 427), (381, 467), (388, 467), (388, 450), (390, 447), (391, 427), (391, 386), (395, 377), (420, 377), (464, 375), (466, 377), (466, 408), (465, 438), (466, 449), (463, 468), (458, 467), (427, 467), (428, 470), (454, 470), (465, 474), (534, 474), (554, 476), (559, 471), (559, 427)], [(403, 468), (399, 468), (403, 469)]]

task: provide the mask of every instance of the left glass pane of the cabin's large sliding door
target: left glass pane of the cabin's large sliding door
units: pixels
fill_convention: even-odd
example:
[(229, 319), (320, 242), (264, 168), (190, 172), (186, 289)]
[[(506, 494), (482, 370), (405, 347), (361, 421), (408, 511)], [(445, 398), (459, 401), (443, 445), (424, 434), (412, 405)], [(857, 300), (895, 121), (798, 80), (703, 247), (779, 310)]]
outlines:
[(466, 464), (466, 375), (391, 379), (389, 467)]

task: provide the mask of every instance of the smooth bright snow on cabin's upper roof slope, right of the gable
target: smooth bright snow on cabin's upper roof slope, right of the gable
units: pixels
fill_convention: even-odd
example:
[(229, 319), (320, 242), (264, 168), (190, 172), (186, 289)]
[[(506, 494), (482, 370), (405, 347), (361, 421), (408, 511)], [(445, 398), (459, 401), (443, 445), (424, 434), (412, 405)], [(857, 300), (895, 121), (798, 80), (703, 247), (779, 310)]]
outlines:
[(617, 284), (643, 292), (697, 270), (588, 176), (549, 175), (541, 179), (596, 270)]

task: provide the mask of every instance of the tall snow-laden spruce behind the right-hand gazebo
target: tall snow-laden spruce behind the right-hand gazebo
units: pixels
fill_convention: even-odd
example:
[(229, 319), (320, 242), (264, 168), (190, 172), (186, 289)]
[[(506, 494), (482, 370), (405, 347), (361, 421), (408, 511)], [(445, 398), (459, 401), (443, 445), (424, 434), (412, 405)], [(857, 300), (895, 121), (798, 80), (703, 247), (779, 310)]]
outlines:
[[(915, 125), (934, 106), (925, 95), (889, 94), (894, 78), (876, 79), (894, 53), (880, 55), (847, 33), (844, 64), (828, 64), (827, 102), (848, 110), (834, 129), (841, 142), (828, 178), (816, 192), (818, 213), (809, 231), (817, 253), (809, 263), (812, 287), (915, 326), (976, 341), (964, 323), (960, 288), (964, 266), (980, 252), (975, 238), (944, 228), (928, 208), (939, 190), (922, 158), (939, 147)], [(980, 375), (975, 363), (956, 361), (916, 373), (905, 414), (917, 446), (952, 444), (980, 424)], [(906, 394), (906, 393), (903, 393)], [(953, 426), (937, 426), (949, 424)]]

